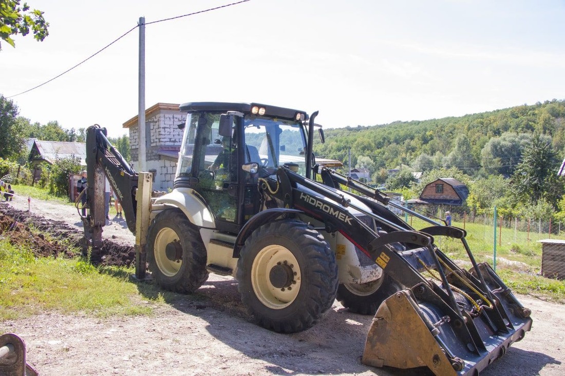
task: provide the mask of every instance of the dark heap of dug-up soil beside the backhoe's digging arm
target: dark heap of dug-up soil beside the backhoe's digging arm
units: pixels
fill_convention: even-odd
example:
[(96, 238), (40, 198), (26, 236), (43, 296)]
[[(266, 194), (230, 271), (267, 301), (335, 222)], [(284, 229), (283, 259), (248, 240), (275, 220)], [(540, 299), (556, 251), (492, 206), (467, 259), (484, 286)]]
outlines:
[[(82, 232), (66, 222), (47, 220), (6, 204), (0, 204), (0, 235), (9, 238), (11, 244), (29, 247), (36, 256), (74, 257), (83, 242)], [(104, 241), (98, 257), (93, 258), (97, 265), (130, 266), (134, 261), (133, 247), (110, 240)]]

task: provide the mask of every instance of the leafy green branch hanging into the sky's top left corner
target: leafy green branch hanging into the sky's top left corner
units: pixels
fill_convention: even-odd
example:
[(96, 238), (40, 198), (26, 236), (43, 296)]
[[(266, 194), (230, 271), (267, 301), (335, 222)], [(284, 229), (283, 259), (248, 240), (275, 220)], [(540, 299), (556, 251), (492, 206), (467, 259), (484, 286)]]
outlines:
[(17, 34), (26, 36), (30, 28), (33, 37), (37, 41), (43, 41), (49, 35), (47, 27), (49, 23), (45, 21), (42, 11), (37, 9), (29, 11), (27, 3), (20, 7), (20, 0), (0, 0), (0, 38), (12, 47), (15, 47), (12, 36)]

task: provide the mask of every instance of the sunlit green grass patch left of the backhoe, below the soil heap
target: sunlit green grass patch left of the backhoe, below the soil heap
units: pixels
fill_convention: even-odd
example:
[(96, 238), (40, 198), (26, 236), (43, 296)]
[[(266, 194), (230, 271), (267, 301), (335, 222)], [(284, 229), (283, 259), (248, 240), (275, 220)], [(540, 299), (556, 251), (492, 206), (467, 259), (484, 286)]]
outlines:
[[(133, 269), (95, 268), (81, 258), (39, 258), (0, 241), (0, 321), (43, 311), (98, 317), (151, 314), (168, 298), (129, 280)], [(144, 291), (145, 290), (145, 291)], [(147, 292), (147, 295), (145, 293)]]

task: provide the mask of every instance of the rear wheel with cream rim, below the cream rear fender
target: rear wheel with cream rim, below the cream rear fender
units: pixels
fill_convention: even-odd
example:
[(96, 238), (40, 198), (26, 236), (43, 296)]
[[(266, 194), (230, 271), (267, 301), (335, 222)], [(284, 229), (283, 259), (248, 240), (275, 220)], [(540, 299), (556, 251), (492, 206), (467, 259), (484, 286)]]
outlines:
[(180, 209), (163, 211), (151, 222), (147, 263), (164, 290), (189, 294), (208, 279), (206, 248), (198, 228)]

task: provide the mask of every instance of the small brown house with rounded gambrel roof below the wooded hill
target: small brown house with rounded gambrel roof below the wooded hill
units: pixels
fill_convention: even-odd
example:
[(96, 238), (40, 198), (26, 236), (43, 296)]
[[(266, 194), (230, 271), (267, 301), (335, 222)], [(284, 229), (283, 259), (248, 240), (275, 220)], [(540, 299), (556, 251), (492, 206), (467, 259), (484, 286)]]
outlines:
[(459, 180), (439, 178), (426, 185), (418, 199), (408, 200), (408, 203), (462, 206), (468, 195), (469, 189)]

